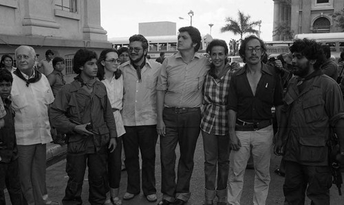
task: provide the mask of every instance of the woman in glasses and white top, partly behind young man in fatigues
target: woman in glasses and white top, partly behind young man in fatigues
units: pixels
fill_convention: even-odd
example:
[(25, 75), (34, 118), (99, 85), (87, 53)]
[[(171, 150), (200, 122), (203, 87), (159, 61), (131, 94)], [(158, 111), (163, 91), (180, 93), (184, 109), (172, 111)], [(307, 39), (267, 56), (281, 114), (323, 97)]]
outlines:
[(111, 103), (112, 111), (116, 121), (117, 131), (117, 147), (114, 152), (108, 156), (107, 171), (109, 175), (110, 191), (107, 193), (105, 204), (114, 203), (115, 205), (122, 204), (119, 198), (120, 188), (120, 172), (121, 172), (121, 152), (122, 152), (122, 135), (125, 134), (125, 128), (122, 121), (120, 110), (122, 110), (123, 98), (123, 75), (122, 71), (118, 69), (120, 59), (118, 58), (118, 51), (116, 49), (104, 49), (98, 58), (98, 74), (97, 77), (100, 82), (105, 84), (107, 89), (107, 96)]

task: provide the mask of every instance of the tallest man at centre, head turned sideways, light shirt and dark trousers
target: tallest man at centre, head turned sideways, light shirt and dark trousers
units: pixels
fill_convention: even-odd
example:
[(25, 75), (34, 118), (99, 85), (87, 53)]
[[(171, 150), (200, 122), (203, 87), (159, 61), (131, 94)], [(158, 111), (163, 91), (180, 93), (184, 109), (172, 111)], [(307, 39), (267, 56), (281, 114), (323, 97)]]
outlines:
[[(158, 133), (162, 169), (160, 205), (182, 205), (190, 196), (193, 155), (200, 135), (204, 77), (210, 69), (208, 58), (197, 53), (200, 31), (181, 27), (178, 53), (162, 62), (158, 79)], [(175, 147), (180, 145), (178, 179), (175, 180)], [(176, 182), (177, 181), (177, 182)]]

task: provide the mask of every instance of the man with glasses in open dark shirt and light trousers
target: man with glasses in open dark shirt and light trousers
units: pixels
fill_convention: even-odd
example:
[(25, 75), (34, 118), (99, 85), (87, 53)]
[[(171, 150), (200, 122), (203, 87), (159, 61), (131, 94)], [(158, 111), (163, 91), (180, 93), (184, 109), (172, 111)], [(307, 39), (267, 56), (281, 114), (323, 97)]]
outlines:
[(266, 204), (270, 184), (270, 156), (272, 147), (272, 106), (277, 116), (282, 102), (279, 74), (261, 62), (266, 52), (264, 42), (257, 36), (242, 40), (239, 55), (245, 67), (233, 74), (228, 93), (230, 136), (230, 168), (228, 203), (240, 204), (246, 163), (252, 149), (255, 165), (255, 193), (253, 204)]

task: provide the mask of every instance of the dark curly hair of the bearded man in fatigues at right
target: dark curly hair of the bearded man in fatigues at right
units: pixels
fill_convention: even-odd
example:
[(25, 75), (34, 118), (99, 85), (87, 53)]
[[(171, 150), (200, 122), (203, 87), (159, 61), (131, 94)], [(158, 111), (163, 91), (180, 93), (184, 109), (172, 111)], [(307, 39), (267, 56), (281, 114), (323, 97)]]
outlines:
[(294, 43), (289, 49), (292, 53), (301, 53), (301, 55), (305, 56), (308, 60), (316, 60), (314, 63), (314, 70), (320, 69), (321, 64), (325, 61), (325, 55), (323, 54), (323, 49), (321, 49), (321, 44), (316, 43), (315, 40), (307, 38), (294, 40)]

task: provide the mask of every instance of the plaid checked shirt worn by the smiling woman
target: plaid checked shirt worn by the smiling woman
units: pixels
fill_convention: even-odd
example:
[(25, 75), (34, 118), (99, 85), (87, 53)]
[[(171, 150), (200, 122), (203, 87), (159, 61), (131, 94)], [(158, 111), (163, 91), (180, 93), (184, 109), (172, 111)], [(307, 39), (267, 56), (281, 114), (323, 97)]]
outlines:
[[(230, 65), (226, 64), (224, 69), (228, 67)], [(233, 70), (228, 69), (226, 74), (217, 79), (211, 73), (208, 73), (204, 80), (204, 106), (201, 129), (208, 134), (228, 134), (226, 106), (228, 105), (229, 82), (232, 73)]]

